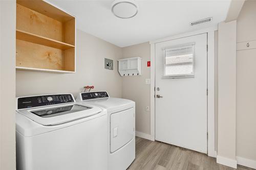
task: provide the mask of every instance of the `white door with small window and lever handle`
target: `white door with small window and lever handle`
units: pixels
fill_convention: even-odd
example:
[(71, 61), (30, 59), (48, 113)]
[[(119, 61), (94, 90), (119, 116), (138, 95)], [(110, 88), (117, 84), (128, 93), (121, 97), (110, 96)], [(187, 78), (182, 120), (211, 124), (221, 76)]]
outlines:
[(207, 34), (156, 43), (156, 140), (207, 153)]

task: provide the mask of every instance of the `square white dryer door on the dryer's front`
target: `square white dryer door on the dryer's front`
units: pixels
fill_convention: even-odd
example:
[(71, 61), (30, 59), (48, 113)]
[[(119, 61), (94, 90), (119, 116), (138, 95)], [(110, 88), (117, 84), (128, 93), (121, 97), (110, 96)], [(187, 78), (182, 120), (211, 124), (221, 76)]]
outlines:
[(127, 109), (110, 116), (110, 152), (120, 149), (134, 138), (135, 108)]

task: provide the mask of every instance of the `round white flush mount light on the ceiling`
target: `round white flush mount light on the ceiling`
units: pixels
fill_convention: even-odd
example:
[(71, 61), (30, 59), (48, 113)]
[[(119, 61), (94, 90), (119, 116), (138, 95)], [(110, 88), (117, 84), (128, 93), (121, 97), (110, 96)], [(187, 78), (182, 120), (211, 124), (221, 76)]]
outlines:
[(132, 18), (138, 13), (138, 4), (133, 0), (115, 0), (111, 11), (119, 18)]

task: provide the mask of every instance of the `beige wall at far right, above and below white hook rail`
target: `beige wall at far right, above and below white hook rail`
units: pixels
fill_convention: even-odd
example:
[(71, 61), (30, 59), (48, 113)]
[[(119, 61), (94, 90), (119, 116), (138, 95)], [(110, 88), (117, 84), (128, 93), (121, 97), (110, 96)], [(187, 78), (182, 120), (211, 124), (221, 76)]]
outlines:
[[(256, 1), (237, 20), (237, 42), (256, 40)], [(256, 161), (256, 48), (237, 51), (237, 156)]]

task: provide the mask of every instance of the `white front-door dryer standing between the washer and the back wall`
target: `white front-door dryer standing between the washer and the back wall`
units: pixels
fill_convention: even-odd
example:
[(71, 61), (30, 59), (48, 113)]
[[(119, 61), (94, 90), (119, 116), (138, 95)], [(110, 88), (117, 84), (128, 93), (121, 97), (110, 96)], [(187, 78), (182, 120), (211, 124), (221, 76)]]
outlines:
[(108, 169), (125, 170), (135, 159), (135, 102), (106, 91), (82, 92), (76, 100), (108, 111)]

